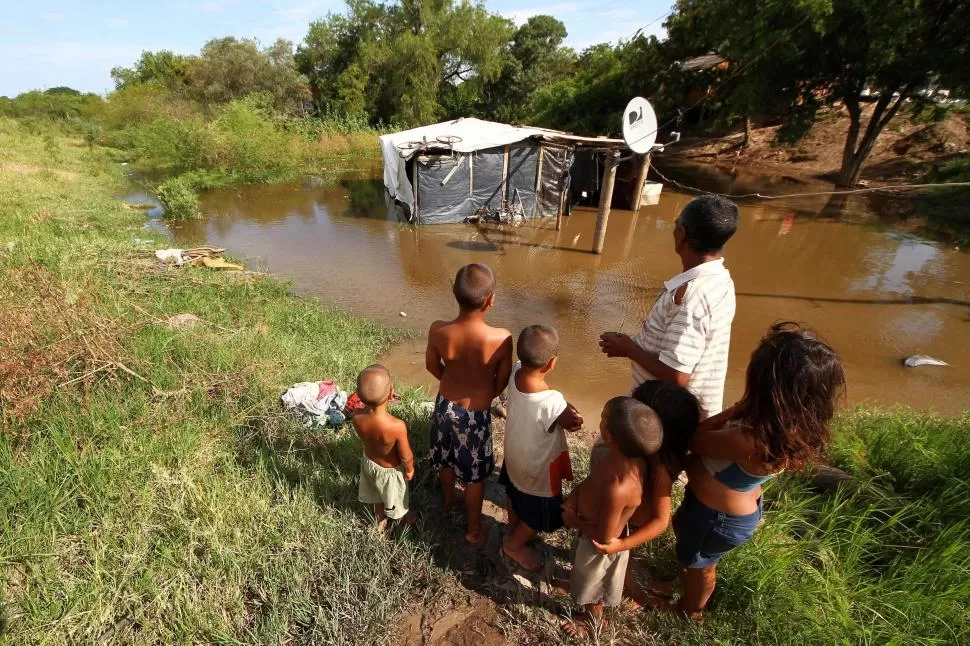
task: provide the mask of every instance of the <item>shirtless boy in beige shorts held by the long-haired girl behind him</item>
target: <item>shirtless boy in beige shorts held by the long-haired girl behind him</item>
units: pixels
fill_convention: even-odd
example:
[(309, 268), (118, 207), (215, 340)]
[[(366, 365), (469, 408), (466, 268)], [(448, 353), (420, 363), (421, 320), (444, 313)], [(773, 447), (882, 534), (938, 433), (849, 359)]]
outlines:
[[(570, 494), (564, 514), (567, 523), (580, 531), (570, 576), (570, 594), (598, 623), (604, 606), (617, 606), (623, 597), (628, 551), (601, 554), (593, 541), (609, 545), (618, 540), (643, 499), (643, 483), (649, 477), (647, 460), (660, 448), (663, 428), (649, 407), (632, 397), (606, 402), (600, 434), (609, 451), (589, 476)], [(590, 626), (573, 623), (567, 631), (582, 633)]]

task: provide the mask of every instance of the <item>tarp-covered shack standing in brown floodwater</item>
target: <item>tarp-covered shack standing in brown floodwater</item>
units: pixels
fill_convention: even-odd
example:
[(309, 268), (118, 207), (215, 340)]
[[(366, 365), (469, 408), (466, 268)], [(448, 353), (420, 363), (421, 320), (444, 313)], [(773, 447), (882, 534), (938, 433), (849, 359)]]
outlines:
[(388, 196), (417, 224), (556, 218), (559, 228), (576, 204), (636, 210), (650, 163), (621, 157), (622, 139), (475, 118), (379, 141)]

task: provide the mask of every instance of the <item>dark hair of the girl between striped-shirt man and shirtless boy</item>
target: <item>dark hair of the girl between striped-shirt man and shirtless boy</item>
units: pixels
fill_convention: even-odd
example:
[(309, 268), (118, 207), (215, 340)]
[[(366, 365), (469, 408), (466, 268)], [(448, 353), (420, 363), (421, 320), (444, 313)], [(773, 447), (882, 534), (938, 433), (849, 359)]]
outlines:
[(701, 421), (701, 408), (692, 392), (675, 384), (650, 379), (633, 391), (633, 397), (653, 409), (664, 427), (660, 459), (671, 477), (676, 477), (687, 461), (690, 438)]

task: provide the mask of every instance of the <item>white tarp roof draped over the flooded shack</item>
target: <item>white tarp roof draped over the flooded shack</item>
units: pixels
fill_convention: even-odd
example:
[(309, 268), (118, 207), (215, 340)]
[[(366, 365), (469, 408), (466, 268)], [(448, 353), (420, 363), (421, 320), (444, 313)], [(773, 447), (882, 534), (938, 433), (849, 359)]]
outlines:
[(540, 128), (519, 128), (505, 123), (483, 121), (474, 117), (443, 121), (430, 126), (421, 126), (412, 130), (395, 132), (378, 137), (381, 144), (381, 154), (384, 155), (384, 186), (391, 196), (414, 207), (414, 189), (408, 181), (405, 163), (413, 157), (416, 150), (402, 151), (400, 144), (412, 141), (433, 142), (438, 137), (458, 137), (451, 148), (455, 152), (470, 153), (485, 148), (505, 146), (518, 143), (535, 136), (548, 134), (548, 130)]

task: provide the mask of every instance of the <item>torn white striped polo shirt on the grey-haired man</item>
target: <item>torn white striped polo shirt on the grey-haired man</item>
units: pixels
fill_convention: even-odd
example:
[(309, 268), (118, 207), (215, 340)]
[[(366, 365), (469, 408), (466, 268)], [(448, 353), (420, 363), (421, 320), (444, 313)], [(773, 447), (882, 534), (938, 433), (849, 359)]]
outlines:
[[(674, 295), (684, 284), (687, 292), (678, 305)], [(703, 417), (716, 415), (723, 407), (734, 307), (734, 281), (724, 259), (705, 262), (664, 283), (634, 338), (667, 366), (690, 374), (687, 387), (700, 401)], [(631, 363), (634, 388), (656, 379), (640, 364)]]

